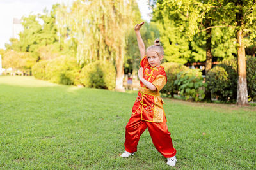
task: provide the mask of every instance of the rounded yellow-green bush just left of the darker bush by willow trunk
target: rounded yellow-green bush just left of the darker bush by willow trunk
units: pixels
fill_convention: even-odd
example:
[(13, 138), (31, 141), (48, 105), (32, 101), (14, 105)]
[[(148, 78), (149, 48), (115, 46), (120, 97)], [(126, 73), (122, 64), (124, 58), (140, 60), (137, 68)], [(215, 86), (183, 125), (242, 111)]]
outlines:
[(49, 60), (45, 67), (46, 80), (63, 85), (74, 85), (79, 76), (79, 67), (73, 57), (61, 56)]

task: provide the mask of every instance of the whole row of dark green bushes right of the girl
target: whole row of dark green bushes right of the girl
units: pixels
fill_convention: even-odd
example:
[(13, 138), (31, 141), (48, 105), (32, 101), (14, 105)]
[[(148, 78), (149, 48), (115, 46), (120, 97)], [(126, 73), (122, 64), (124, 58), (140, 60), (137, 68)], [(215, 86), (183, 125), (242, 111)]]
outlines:
[[(229, 103), (236, 102), (237, 98), (237, 59), (224, 59), (212, 68), (205, 79), (198, 69), (177, 63), (164, 63), (167, 83), (161, 90), (168, 97), (180, 92), (184, 99), (199, 101), (204, 98), (204, 88), (211, 92), (212, 97)], [(256, 57), (247, 57), (246, 79), (249, 101), (256, 101)]]

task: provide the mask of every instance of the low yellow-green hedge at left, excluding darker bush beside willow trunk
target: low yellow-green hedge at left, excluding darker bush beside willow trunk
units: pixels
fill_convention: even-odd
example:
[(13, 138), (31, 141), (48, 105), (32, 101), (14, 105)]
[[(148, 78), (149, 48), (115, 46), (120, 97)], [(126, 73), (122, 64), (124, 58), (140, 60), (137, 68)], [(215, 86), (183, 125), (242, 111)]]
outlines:
[(74, 85), (79, 76), (76, 59), (61, 56), (53, 60), (40, 61), (33, 66), (33, 76), (52, 83)]

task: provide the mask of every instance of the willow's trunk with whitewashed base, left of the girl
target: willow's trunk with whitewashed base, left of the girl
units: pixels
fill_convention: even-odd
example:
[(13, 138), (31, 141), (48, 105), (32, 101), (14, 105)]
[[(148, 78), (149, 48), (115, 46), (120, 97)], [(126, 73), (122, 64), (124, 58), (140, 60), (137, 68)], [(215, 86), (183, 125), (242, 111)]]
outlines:
[(116, 91), (124, 92), (123, 87), (123, 65), (124, 65), (124, 50), (122, 47), (116, 52)]

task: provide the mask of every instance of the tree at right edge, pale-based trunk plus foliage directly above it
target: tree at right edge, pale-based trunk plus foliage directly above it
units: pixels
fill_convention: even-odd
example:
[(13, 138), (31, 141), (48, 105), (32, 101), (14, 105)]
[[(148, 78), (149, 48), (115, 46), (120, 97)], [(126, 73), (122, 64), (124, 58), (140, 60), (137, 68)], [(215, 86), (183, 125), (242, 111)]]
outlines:
[(231, 8), (236, 10), (236, 18), (231, 20), (236, 22), (237, 38), (237, 104), (248, 104), (248, 91), (246, 83), (246, 57), (244, 36), (255, 32), (256, 29), (256, 1), (234, 0), (228, 2)]

